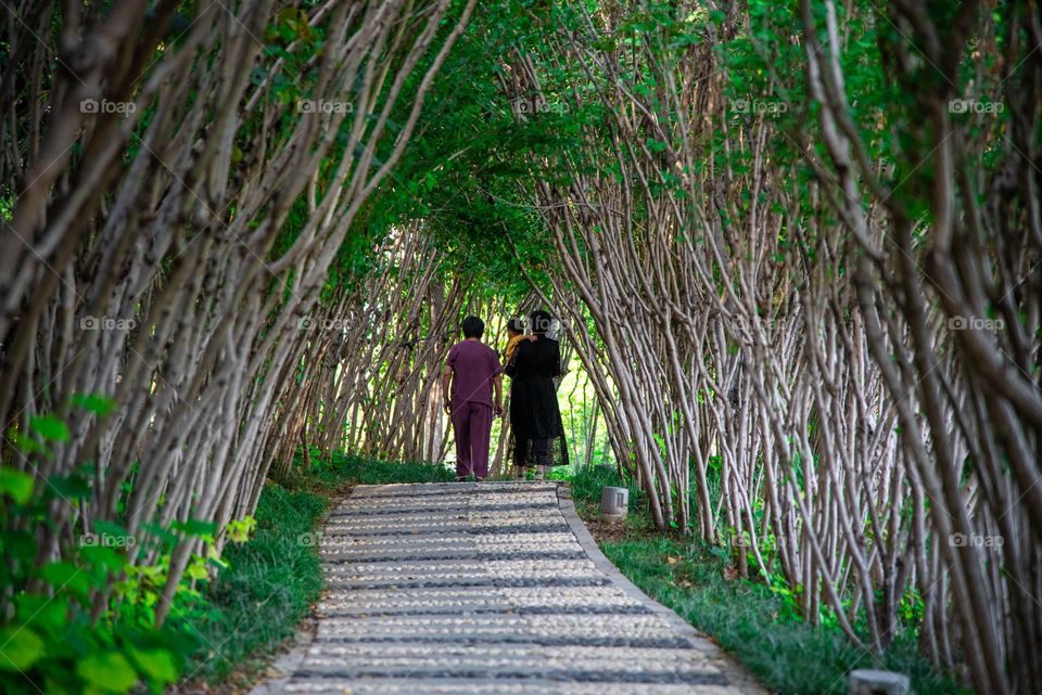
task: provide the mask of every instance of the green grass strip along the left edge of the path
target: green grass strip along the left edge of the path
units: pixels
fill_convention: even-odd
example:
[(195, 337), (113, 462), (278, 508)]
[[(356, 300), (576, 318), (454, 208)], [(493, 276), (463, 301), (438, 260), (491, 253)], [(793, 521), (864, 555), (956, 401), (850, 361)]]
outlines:
[(312, 471), (269, 481), (249, 541), (229, 545), (221, 569), (189, 614), (175, 616), (199, 641), (177, 692), (233, 693), (255, 680), (291, 639), (322, 589), (310, 542), (331, 500), (352, 485), (452, 480), (436, 465), (334, 454)]

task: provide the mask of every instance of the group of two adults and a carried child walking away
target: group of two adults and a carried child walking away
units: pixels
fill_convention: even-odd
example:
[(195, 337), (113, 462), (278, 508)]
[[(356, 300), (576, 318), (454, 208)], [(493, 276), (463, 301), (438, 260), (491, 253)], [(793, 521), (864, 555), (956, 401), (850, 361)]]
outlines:
[(484, 322), (463, 319), (463, 340), (448, 352), (442, 374), (445, 411), (456, 436), (456, 479), (488, 474), (492, 420), (503, 414), (503, 374), (511, 377), (510, 426), (514, 473), (524, 477), (536, 466), (536, 479), (546, 468), (568, 463), (564, 427), (557, 404), (555, 377), (561, 375), (560, 346), (547, 337), (550, 314), (533, 311), (531, 335), (523, 335), (518, 320), (508, 324), (510, 343), (506, 370), (494, 349), (481, 342)]

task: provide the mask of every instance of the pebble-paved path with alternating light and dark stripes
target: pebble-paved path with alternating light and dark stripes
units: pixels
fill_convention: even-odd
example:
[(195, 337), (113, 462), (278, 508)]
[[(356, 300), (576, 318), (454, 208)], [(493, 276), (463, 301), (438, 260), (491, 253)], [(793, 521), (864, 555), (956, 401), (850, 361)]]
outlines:
[(314, 634), (252, 695), (762, 695), (631, 584), (550, 482), (360, 486)]

